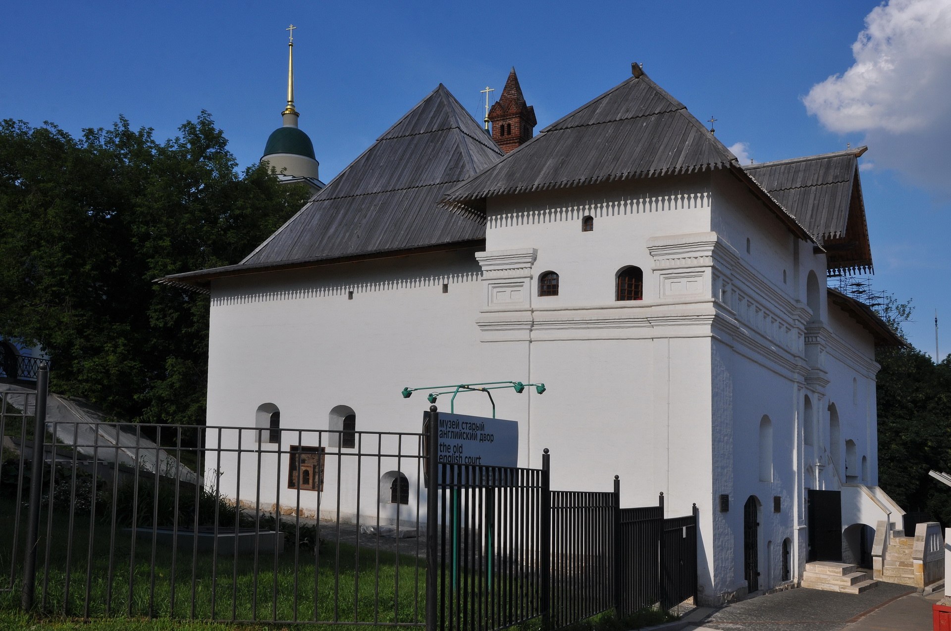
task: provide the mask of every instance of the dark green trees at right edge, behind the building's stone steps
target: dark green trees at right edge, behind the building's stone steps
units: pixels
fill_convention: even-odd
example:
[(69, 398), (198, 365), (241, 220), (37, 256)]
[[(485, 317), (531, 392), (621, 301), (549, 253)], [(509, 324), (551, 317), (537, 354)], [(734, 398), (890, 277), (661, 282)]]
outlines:
[[(909, 303), (887, 296), (888, 323), (902, 335)], [(902, 335), (903, 337), (903, 335)], [(910, 344), (876, 353), (879, 484), (905, 510), (951, 524), (951, 488), (928, 476), (951, 473), (951, 355), (936, 364)]]

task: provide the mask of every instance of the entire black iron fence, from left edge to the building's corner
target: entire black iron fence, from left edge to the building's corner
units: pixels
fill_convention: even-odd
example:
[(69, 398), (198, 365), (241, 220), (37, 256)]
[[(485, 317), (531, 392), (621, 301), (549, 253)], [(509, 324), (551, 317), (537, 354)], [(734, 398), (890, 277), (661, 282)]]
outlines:
[(616, 478), (553, 491), (547, 450), (494, 468), (438, 463), (435, 434), (47, 423), (44, 392), (45, 371), (0, 392), (0, 607), (488, 631), (695, 595), (695, 510), (621, 508)]

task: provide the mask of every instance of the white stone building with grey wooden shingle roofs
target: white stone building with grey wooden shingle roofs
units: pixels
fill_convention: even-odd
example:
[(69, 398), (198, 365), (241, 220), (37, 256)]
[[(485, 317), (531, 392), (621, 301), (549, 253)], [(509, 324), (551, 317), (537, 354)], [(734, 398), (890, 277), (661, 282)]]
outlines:
[(874, 358), (899, 340), (826, 286), (871, 267), (864, 148), (741, 166), (633, 70), (534, 138), (514, 71), (491, 139), (439, 86), (241, 263), (165, 278), (211, 293), (207, 425), (418, 431), (405, 386), (541, 381), (496, 396), (520, 466), (696, 503), (706, 600), (801, 576), (809, 489), (841, 491), (860, 556), (856, 525), (901, 513)]

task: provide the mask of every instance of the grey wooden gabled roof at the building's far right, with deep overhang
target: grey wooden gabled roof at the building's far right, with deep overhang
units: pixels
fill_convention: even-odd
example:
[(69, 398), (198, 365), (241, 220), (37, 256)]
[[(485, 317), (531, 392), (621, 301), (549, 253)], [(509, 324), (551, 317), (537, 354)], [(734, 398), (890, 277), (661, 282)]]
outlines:
[(866, 148), (744, 166), (819, 239), (833, 273), (872, 271), (858, 164)]

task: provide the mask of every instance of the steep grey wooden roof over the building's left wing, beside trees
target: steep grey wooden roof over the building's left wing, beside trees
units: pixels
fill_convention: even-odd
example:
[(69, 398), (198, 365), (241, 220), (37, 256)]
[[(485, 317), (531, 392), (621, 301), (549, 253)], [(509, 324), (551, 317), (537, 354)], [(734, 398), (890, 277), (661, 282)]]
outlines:
[(439, 86), (237, 265), (166, 277), (211, 277), (485, 239), (477, 220), (438, 206), (445, 191), (502, 156), (456, 98)]

